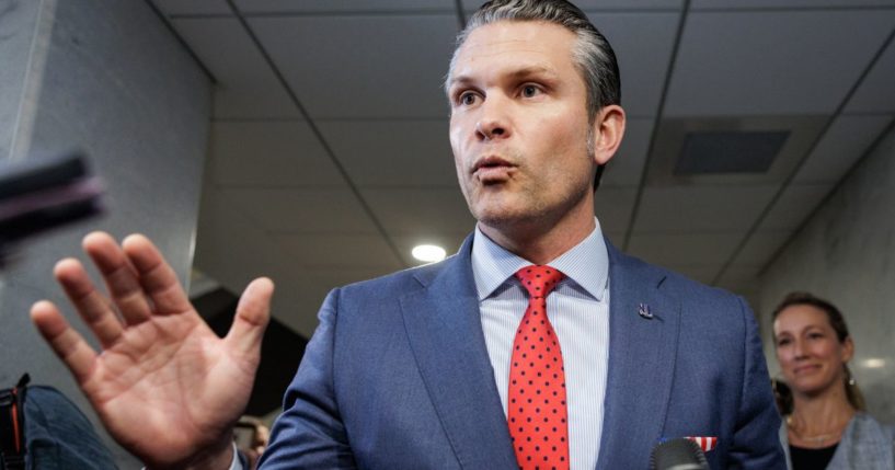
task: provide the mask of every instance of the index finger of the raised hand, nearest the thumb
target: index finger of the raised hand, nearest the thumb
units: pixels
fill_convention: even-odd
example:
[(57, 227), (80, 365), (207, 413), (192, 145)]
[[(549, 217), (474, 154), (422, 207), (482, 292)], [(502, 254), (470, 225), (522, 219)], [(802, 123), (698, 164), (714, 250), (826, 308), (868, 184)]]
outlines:
[(181, 313), (192, 310), (190, 299), (183, 291), (174, 270), (148, 238), (141, 234), (129, 236), (122, 242), (122, 248), (137, 270), (139, 282), (156, 306), (157, 313)]

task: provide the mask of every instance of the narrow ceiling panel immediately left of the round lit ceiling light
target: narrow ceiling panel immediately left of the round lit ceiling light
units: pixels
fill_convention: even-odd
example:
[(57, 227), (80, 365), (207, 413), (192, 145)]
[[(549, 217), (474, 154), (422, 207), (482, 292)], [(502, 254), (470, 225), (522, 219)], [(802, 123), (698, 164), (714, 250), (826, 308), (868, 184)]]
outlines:
[(283, 251), (302, 267), (371, 267), (382, 272), (404, 267), (378, 234), (273, 234)]

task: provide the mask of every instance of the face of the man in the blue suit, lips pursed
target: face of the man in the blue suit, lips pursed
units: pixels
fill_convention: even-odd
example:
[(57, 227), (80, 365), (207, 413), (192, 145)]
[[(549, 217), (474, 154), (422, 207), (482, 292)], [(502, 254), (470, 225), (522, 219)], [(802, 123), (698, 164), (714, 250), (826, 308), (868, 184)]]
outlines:
[(485, 226), (555, 221), (582, 205), (593, 217), (603, 161), (588, 154), (575, 38), (555, 24), (503, 21), (474, 30), (457, 51), (450, 145), (469, 208)]

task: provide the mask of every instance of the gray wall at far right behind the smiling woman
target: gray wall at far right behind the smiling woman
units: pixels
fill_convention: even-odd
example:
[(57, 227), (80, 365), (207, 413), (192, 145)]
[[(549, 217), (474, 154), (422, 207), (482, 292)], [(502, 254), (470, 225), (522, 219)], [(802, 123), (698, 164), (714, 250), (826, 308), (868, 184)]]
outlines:
[[(868, 399), (868, 408), (882, 421), (895, 423), (892, 128), (762, 276), (760, 317), (772, 375), (780, 368), (773, 354), (770, 313), (791, 290), (808, 290), (829, 299), (842, 311), (856, 344), (851, 369)], [(868, 359), (882, 359), (884, 366), (869, 367)]]

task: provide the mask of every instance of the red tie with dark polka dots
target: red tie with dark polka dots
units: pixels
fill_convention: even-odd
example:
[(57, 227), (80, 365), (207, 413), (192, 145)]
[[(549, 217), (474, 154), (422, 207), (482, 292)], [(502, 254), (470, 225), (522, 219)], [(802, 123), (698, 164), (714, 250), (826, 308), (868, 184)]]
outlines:
[(550, 266), (528, 266), (516, 277), (529, 295), (509, 367), (507, 420), (516, 461), (525, 470), (569, 469), (565, 372), (547, 318), (547, 296), (564, 275)]

